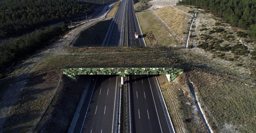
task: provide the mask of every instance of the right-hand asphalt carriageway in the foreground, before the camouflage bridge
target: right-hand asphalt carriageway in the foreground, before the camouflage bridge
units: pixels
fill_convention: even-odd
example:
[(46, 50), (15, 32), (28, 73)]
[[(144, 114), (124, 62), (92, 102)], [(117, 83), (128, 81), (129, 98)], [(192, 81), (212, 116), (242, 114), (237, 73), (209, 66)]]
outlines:
[(128, 133), (170, 133), (153, 78), (129, 77)]

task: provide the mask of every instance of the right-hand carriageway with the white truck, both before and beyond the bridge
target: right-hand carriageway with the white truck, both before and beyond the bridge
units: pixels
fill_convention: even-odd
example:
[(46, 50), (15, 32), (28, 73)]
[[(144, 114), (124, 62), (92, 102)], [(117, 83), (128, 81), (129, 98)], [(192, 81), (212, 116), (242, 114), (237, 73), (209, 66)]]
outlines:
[[(127, 5), (127, 45), (145, 47), (132, 0)], [(139, 38), (134, 33), (138, 32)], [(130, 75), (127, 92), (128, 133), (170, 133), (154, 82), (155, 76)]]

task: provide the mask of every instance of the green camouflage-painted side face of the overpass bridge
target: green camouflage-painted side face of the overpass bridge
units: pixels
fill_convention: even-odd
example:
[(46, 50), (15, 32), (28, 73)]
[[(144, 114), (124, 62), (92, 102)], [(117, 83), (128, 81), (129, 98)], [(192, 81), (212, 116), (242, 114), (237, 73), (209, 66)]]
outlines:
[(76, 75), (125, 75), (141, 74), (141, 75), (160, 75), (165, 74), (169, 81), (175, 79), (183, 72), (177, 68), (68, 68), (63, 69), (62, 74), (76, 81)]

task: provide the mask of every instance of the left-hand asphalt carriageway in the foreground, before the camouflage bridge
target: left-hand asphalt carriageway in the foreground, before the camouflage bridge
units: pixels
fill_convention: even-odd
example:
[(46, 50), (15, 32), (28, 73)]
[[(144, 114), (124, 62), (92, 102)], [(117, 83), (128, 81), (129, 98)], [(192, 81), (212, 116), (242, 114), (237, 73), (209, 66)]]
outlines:
[(119, 76), (94, 75), (92, 79), (74, 133), (116, 133)]

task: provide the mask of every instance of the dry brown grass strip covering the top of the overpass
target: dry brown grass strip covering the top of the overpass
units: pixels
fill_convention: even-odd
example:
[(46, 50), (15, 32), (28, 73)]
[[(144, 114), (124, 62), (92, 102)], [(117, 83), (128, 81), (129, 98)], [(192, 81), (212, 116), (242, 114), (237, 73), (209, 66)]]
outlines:
[(178, 65), (178, 61), (169, 55), (172, 49), (168, 48), (90, 47), (73, 50), (77, 52), (48, 56), (37, 63), (32, 71), (72, 67), (171, 67)]

